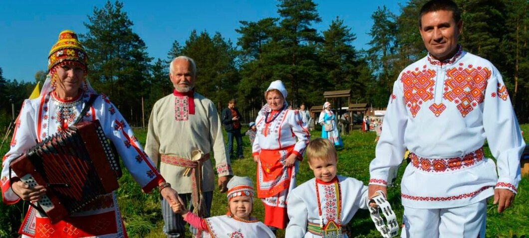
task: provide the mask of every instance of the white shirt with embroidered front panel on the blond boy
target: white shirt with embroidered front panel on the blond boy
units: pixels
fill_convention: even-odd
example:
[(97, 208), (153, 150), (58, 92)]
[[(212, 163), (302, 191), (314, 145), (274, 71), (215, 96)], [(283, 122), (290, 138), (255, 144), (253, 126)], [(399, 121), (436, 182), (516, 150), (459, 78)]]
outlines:
[[(340, 182), (342, 194), (342, 207), (339, 210), (335, 196), (335, 185), (318, 184), (320, 192), (320, 206), (322, 210), (323, 224), (329, 221), (336, 221), (340, 218), (340, 224), (348, 224), (359, 208), (367, 209), (367, 192), (368, 187), (363, 185), (357, 179), (337, 175)], [(316, 179), (313, 178), (294, 188), (288, 195), (288, 223), (285, 231), (285, 237), (321, 237), (307, 231), (308, 223), (320, 224), (320, 215), (318, 214), (318, 204), (316, 199)], [(336, 214), (341, 211), (341, 215)], [(347, 237), (343, 234), (342, 237)]]

